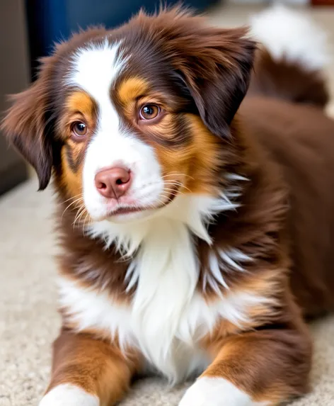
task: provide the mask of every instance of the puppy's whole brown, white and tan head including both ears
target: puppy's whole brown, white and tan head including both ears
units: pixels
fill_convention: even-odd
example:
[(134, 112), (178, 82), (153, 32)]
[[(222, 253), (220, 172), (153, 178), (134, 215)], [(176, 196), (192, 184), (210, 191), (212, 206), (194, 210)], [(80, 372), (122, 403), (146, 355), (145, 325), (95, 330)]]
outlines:
[[(13, 98), (3, 127), (93, 220), (129, 220), (180, 193), (214, 195), (230, 125), (248, 88), (246, 30), (180, 9), (74, 35)], [(82, 203), (82, 202), (81, 202)]]

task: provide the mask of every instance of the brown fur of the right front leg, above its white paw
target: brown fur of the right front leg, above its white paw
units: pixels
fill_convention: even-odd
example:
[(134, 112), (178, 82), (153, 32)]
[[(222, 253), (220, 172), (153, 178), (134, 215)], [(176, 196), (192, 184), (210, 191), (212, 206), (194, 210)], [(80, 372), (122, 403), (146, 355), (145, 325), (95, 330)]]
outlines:
[(278, 405), (309, 390), (310, 342), (304, 332), (271, 329), (222, 341), (221, 351), (202, 376), (221, 377), (254, 401)]

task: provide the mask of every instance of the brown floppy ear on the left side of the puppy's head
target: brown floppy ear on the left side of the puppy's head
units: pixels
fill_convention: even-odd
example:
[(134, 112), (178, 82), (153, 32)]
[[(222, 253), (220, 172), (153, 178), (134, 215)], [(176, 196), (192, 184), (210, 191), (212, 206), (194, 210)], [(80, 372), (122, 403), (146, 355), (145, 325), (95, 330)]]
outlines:
[(28, 90), (11, 96), (1, 130), (9, 142), (35, 168), (39, 190), (49, 184), (52, 173), (52, 128), (50, 128), (50, 92), (53, 57), (42, 60), (40, 76)]

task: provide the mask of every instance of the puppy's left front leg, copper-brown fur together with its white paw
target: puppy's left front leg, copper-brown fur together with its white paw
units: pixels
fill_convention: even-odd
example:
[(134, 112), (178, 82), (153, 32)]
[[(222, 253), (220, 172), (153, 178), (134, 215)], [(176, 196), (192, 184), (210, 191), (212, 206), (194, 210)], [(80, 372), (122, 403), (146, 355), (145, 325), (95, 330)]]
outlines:
[(63, 330), (54, 342), (52, 377), (40, 406), (111, 406), (137, 369), (136, 356), (117, 346)]

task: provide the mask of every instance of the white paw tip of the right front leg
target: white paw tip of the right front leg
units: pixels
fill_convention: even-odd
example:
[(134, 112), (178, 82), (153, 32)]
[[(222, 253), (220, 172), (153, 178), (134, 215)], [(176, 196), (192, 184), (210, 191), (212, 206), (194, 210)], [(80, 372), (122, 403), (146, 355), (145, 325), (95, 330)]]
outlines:
[(223, 378), (199, 378), (190, 386), (179, 406), (260, 406), (247, 393)]

